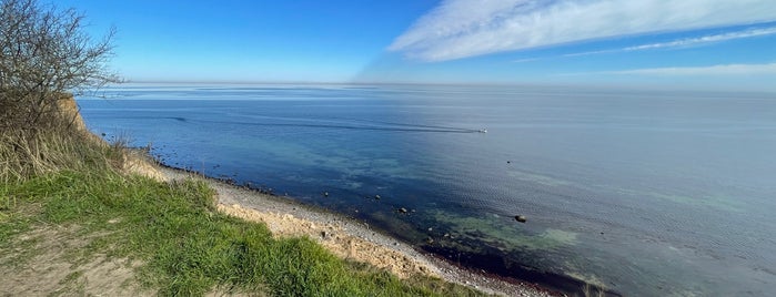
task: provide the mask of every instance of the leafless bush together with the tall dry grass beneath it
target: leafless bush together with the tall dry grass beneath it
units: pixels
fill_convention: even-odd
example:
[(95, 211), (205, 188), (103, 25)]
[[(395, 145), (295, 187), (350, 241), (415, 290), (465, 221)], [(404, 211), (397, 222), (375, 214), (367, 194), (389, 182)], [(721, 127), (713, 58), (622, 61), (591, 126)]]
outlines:
[(109, 147), (78, 131), (70, 93), (118, 81), (107, 68), (115, 30), (93, 40), (83, 29), (73, 9), (0, 0), (0, 182), (105, 164)]

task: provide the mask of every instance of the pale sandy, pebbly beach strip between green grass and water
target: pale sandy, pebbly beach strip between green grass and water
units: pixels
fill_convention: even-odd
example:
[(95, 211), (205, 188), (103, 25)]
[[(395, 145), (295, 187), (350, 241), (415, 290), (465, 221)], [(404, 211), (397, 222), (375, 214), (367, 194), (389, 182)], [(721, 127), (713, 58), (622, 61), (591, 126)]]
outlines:
[[(174, 168), (160, 168), (167, 180), (202, 178)], [(502, 296), (558, 296), (533, 284), (508, 283), (485, 274), (456, 267), (449, 262), (419, 253), (410, 245), (385, 236), (362, 222), (325, 209), (302, 205), (244, 187), (203, 178), (218, 192), (218, 208), (248, 221), (263, 222), (275, 236), (308, 236), (335, 255), (369, 263), (400, 278), (417, 274), (441, 277)]]

